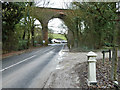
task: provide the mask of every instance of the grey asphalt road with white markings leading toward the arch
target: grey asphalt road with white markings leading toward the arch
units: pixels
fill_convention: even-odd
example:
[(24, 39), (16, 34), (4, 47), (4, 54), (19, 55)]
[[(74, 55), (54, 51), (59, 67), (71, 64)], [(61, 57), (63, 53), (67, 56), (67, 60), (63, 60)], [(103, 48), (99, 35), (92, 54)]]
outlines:
[(52, 45), (2, 60), (2, 88), (44, 88), (64, 45)]

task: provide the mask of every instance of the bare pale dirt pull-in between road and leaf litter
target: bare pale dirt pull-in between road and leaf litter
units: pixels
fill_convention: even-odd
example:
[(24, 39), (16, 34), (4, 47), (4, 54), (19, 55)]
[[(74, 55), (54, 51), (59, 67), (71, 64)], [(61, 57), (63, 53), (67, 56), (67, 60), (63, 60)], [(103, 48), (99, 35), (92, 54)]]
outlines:
[(44, 88), (79, 88), (80, 80), (75, 67), (77, 64), (87, 61), (86, 54), (67, 52)]

